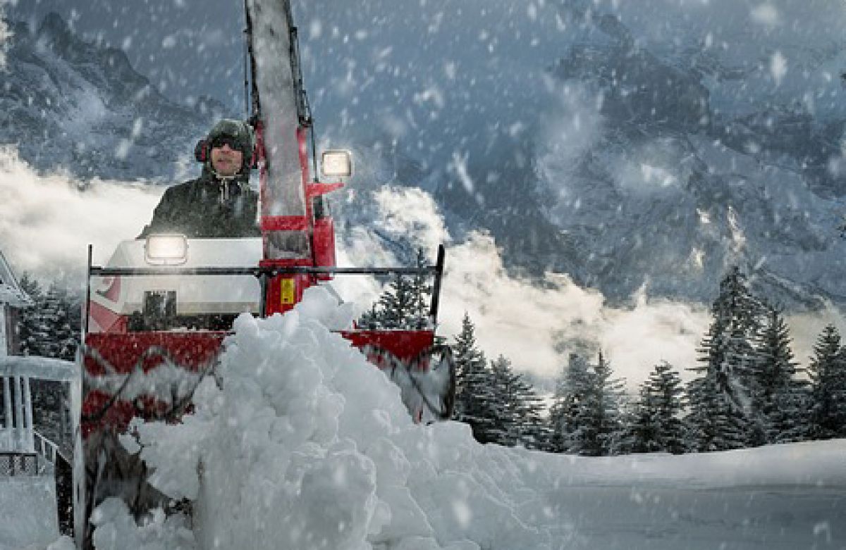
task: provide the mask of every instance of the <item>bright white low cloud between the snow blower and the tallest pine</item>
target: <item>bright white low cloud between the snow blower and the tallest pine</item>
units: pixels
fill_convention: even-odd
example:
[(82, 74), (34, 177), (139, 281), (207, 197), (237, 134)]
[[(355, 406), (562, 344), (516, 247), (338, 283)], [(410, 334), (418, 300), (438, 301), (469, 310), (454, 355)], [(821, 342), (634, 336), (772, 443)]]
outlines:
[[(356, 204), (370, 206), (348, 209), (357, 217), (349, 224), (353, 229), (341, 235), (339, 257), (351, 265), (398, 264), (404, 261), (395, 255), (398, 242), (424, 251), (447, 242), (439, 333), (458, 334), (467, 312), (489, 358), (503, 354), (519, 370), (551, 378), (569, 352), (583, 351), (589, 342), (591, 351), (606, 352), (632, 387), (662, 359), (678, 368), (695, 362), (708, 322), (702, 306), (642, 297), (634, 308), (614, 309), (605, 305), (602, 293), (581, 288), (568, 275), (549, 273), (542, 281), (510, 275), (493, 237), (473, 232), (452, 243), (437, 204), (420, 189), (386, 187)], [(406, 242), (409, 235), (413, 242)], [(359, 281), (353, 289), (352, 280), (339, 280), (349, 285), (339, 291), (366, 309), (378, 292), (373, 286), (366, 292)]]

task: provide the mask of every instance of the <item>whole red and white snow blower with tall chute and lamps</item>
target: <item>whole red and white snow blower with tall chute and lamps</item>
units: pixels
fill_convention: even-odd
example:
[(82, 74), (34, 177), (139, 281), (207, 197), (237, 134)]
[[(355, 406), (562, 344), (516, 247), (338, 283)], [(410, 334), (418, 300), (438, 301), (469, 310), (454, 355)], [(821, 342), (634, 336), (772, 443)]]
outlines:
[[(309, 104), (299, 73), (288, 0), (245, 0), (249, 86), (260, 171), (261, 237), (151, 235), (121, 243), (106, 266), (88, 257), (80, 446), (74, 471), (74, 531), (92, 547), (89, 518), (118, 497), (140, 517), (190, 503), (168, 502), (146, 482), (146, 466), (122, 440), (136, 419), (179, 422), (201, 380), (214, 373), (223, 340), (244, 312), (270, 316), (296, 306), (310, 286), (339, 275), (413, 275), (433, 279), (430, 322), (422, 329), (349, 329), (353, 346), (401, 389), (415, 422), (448, 418), (455, 366), (435, 339), (444, 249), (435, 264), (404, 268), (338, 267), (335, 230), (324, 200), (343, 188), (348, 152), (322, 155), (317, 173)], [(288, 32), (280, 32), (287, 25)], [(309, 151), (309, 144), (311, 152)]]

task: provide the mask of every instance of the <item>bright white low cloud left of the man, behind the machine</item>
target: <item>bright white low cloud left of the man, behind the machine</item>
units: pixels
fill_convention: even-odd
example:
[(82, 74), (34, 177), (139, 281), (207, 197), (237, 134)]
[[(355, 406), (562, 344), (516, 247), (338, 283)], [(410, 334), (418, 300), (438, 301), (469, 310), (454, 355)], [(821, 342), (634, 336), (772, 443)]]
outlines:
[(129, 182), (41, 176), (14, 148), (0, 148), (0, 248), (18, 274), (79, 277), (88, 244), (95, 263), (105, 262), (118, 242), (138, 235), (161, 193)]

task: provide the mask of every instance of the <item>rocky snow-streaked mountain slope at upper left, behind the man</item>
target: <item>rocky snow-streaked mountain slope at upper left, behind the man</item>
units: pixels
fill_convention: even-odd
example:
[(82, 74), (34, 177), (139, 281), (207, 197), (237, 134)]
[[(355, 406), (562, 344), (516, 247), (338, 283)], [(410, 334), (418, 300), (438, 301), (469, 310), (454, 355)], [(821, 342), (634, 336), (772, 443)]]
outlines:
[(0, 144), (41, 170), (76, 177), (168, 181), (191, 162), (195, 139), (223, 111), (168, 101), (124, 52), (80, 38), (57, 14), (37, 28), (9, 25), (0, 84)]

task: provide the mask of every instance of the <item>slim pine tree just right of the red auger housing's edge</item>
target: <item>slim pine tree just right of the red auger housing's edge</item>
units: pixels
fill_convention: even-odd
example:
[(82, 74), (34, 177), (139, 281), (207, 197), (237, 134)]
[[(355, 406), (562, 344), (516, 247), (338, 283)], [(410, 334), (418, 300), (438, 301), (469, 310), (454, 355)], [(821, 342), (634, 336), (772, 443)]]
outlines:
[(473, 437), (480, 443), (497, 440), (497, 404), (492, 374), (485, 354), (476, 347), (475, 326), (464, 313), (461, 332), (455, 337), (453, 358), (456, 364), (456, 392), (453, 419), (470, 424)]

